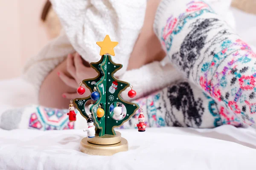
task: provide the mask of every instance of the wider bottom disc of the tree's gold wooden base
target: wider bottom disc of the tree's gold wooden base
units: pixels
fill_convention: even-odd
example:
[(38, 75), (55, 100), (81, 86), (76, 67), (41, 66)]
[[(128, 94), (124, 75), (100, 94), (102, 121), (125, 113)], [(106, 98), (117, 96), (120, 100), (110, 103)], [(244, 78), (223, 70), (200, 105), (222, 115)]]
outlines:
[(80, 142), (80, 150), (89, 155), (111, 156), (118, 152), (127, 151), (128, 142), (125, 138), (121, 138), (121, 142), (117, 144), (100, 145), (88, 142), (86, 137)]

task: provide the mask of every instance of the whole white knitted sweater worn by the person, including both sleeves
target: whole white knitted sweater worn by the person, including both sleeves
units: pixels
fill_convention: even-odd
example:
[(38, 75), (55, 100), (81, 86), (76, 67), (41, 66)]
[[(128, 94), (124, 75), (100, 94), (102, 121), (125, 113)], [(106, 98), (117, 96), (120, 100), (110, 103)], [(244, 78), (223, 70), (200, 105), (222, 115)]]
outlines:
[[(231, 0), (208, 0), (221, 15), (226, 16)], [(145, 17), (146, 0), (51, 0), (64, 31), (49, 42), (35, 57), (27, 62), (24, 77), (39, 91), (47, 74), (61, 63), (67, 54), (77, 51), (87, 62), (101, 58), (97, 41), (106, 34), (118, 41), (113, 61), (123, 65), (115, 75), (130, 82), (137, 98), (182, 79), (182, 75), (169, 63), (152, 62), (142, 68), (126, 71), (128, 60)], [(221, 6), (221, 8), (220, 8)], [(229, 16), (229, 15), (228, 15)], [(231, 25), (233, 25), (232, 20)], [(127, 89), (122, 95), (129, 100)], [(38, 93), (37, 93), (38, 94)]]

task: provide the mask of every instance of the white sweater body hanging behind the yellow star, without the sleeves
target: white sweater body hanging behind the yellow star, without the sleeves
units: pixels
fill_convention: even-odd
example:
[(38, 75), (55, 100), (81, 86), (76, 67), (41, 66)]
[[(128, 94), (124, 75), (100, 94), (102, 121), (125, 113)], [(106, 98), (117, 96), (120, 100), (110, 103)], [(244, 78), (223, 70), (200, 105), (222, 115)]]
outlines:
[(97, 41), (108, 34), (115, 47), (113, 61), (123, 65), (122, 75), (145, 17), (146, 0), (51, 0), (74, 49), (88, 62), (101, 58)]

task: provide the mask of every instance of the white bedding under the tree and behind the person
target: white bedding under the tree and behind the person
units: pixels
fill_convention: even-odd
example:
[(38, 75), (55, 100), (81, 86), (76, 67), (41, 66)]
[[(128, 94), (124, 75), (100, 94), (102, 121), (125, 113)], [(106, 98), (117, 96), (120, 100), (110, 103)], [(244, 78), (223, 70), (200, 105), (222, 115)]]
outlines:
[[(256, 46), (256, 16), (232, 9), (237, 31)], [(247, 19), (247, 20), (246, 20)], [(244, 25), (247, 27), (243, 27)], [(36, 101), (22, 79), (0, 81), (0, 114)], [(81, 130), (0, 129), (0, 170), (240, 170), (255, 168), (256, 131), (229, 125), (215, 129), (147, 128), (145, 133), (120, 130), (128, 152), (88, 156), (79, 151)]]

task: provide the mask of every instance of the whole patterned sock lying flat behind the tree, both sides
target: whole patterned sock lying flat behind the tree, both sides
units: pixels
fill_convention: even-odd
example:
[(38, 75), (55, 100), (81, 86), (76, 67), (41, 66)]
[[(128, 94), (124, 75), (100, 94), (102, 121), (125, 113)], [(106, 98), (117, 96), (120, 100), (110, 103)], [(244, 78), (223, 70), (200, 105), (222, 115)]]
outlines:
[[(177, 82), (133, 102), (143, 109), (147, 127), (212, 128), (223, 124), (241, 125), (241, 119), (237, 115), (229, 113), (225, 107), (188, 81)], [(87, 126), (86, 120), (77, 110), (76, 122), (69, 122), (67, 112), (68, 109), (45, 108), (37, 105), (17, 108), (0, 115), (0, 128), (65, 130), (83, 129)], [(134, 128), (134, 124), (138, 123), (139, 113), (138, 110), (119, 128)]]

